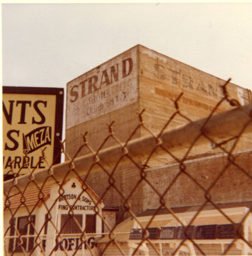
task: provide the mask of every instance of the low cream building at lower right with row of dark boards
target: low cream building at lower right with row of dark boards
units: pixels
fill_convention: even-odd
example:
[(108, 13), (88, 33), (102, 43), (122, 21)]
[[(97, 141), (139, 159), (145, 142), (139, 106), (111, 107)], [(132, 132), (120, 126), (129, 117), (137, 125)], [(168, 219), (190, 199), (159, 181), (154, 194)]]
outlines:
[(251, 255), (252, 202), (201, 207), (148, 209), (128, 218), (97, 242), (99, 254)]

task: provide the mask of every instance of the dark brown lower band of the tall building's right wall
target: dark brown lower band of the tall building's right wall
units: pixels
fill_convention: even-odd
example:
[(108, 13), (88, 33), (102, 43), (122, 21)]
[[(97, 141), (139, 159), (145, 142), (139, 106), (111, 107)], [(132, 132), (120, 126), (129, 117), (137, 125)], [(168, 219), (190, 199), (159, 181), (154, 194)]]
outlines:
[[(206, 202), (205, 190), (212, 183), (215, 184), (209, 191), (209, 195), (215, 204), (252, 201), (252, 180), (250, 178), (252, 153), (235, 155), (234, 163), (241, 168), (229, 163), (226, 156), (194, 159), (184, 163), (185, 172), (192, 179), (185, 173), (181, 173), (175, 180), (180, 173), (179, 163), (150, 169), (146, 172), (146, 179), (160, 195), (163, 195), (170, 186), (168, 192), (164, 194), (167, 207), (203, 205)], [(221, 177), (215, 182), (221, 173)], [(144, 183), (143, 194), (144, 210), (160, 207), (160, 196), (147, 183)]]

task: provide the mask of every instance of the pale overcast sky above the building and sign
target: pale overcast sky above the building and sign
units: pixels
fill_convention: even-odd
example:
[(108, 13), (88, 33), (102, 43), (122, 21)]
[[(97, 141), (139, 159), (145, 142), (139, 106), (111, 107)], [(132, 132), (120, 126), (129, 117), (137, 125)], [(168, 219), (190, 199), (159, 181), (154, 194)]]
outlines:
[(252, 3), (2, 4), (3, 85), (66, 87), (141, 44), (252, 90)]

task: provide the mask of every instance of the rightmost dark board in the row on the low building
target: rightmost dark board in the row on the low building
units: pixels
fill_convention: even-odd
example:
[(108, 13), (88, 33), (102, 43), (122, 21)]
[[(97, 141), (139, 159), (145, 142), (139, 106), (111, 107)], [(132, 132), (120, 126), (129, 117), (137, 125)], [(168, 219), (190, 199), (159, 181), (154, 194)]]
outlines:
[(239, 224), (225, 224), (219, 225), (218, 237), (219, 239), (234, 239), (243, 236), (243, 227)]

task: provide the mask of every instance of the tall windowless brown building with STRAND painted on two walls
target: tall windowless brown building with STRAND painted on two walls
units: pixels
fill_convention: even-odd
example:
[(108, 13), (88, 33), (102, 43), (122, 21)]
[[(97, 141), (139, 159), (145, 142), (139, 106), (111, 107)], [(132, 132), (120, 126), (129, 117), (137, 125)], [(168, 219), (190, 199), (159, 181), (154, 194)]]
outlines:
[[(112, 121), (117, 138), (122, 142), (127, 141), (139, 125), (137, 113), (143, 109), (145, 126), (153, 133), (159, 133), (174, 114), (174, 101), (181, 93), (179, 108), (184, 116), (192, 121), (208, 117), (224, 97), (221, 88), (224, 83), (222, 79), (137, 45), (67, 83), (66, 152), (71, 157), (75, 156), (83, 144), (81, 134), (86, 131), (89, 144), (95, 151), (98, 150), (109, 135), (106, 123)], [(241, 105), (252, 102), (251, 91), (233, 83), (229, 83), (227, 89), (228, 97)], [(214, 113), (232, 108), (235, 107), (225, 100)], [(187, 119), (178, 115), (167, 129), (176, 129), (187, 123)], [(147, 135), (149, 132), (140, 127), (131, 139)], [(184, 164), (201, 186), (207, 187), (225, 169), (223, 179), (226, 179), (219, 180), (210, 191), (214, 202), (251, 201), (251, 190), (247, 189), (251, 186), (251, 180), (247, 179), (247, 175), (251, 177), (251, 141), (251, 135), (242, 136), (234, 151), (237, 156), (235, 161), (244, 166), (248, 174), (232, 164), (226, 168), (226, 155), (211, 142), (190, 150)], [(114, 140), (108, 140), (103, 148), (115, 144)], [(233, 144), (234, 140), (226, 143), (225, 150), (231, 150)], [(185, 148), (176, 153), (175, 157), (182, 159), (187, 150)], [(87, 153), (83, 148), (78, 156)], [(137, 164), (141, 166), (145, 161)], [(158, 193), (162, 193), (172, 181), (180, 164), (175, 163), (174, 158), (168, 154), (163, 154), (150, 158), (147, 167), (146, 179), (155, 190), (145, 181), (137, 186), (129, 199), (134, 212), (160, 206)], [(141, 179), (140, 171), (134, 163), (121, 165), (116, 168), (113, 178), (114, 186), (121, 191), (123, 197), (113, 187), (107, 190), (109, 178), (102, 170), (98, 173), (90, 172), (87, 183), (99, 196), (105, 194), (103, 201), (107, 207), (118, 207), (122, 212), (125, 198)], [(200, 205), (205, 202), (202, 188), (183, 174), (165, 198), (169, 207)]]

